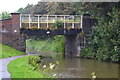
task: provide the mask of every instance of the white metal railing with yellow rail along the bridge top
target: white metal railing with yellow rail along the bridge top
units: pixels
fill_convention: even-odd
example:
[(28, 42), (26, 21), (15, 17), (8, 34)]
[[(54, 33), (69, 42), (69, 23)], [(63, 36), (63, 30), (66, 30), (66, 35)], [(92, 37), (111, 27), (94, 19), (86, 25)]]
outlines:
[[(66, 28), (82, 28), (81, 15), (38, 15), (20, 14), (20, 28), (51, 28), (56, 21), (61, 21)], [(44, 24), (44, 25), (43, 25)]]

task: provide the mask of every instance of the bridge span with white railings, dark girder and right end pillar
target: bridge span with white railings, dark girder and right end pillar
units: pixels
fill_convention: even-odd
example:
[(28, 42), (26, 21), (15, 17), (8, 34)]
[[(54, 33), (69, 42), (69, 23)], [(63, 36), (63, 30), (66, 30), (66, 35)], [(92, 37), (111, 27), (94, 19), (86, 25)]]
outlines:
[(20, 32), (27, 35), (76, 35), (81, 31), (88, 34), (94, 23), (90, 14), (20, 14)]

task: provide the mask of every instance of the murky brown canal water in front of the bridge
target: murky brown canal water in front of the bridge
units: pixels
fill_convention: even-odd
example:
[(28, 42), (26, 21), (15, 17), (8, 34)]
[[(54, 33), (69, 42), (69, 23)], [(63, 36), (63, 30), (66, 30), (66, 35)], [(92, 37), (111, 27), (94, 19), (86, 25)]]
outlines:
[(49, 63), (55, 64), (55, 68), (48, 74), (59, 78), (91, 78), (92, 73), (95, 73), (97, 78), (118, 78), (118, 64), (116, 63), (80, 58), (61, 60), (45, 58), (42, 61), (42, 65), (49, 66)]

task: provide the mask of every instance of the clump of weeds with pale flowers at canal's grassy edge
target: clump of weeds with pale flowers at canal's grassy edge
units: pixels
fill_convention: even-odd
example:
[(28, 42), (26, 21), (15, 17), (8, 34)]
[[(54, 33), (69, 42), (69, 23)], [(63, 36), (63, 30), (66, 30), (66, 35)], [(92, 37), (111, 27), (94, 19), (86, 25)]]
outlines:
[(47, 77), (57, 78), (56, 74), (54, 73), (54, 69), (55, 67), (57, 67), (57, 65), (60, 64), (60, 62), (59, 61), (50, 61), (50, 62), (48, 61), (47, 63), (45, 63), (44, 61), (46, 60), (42, 56), (30, 55), (28, 57), (28, 63), (33, 67), (33, 70), (39, 71), (42, 74), (45, 74)]

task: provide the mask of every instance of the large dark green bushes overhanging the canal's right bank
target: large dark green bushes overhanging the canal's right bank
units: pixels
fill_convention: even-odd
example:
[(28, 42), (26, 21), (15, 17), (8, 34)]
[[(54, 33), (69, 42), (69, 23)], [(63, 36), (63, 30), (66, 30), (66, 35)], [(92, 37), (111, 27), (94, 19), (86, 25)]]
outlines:
[(109, 13), (109, 16), (112, 18), (109, 22), (105, 22), (103, 18), (98, 26), (92, 28), (92, 33), (89, 35), (88, 47), (95, 52), (94, 58), (97, 60), (120, 61), (119, 15), (119, 9), (114, 7), (112, 13)]

